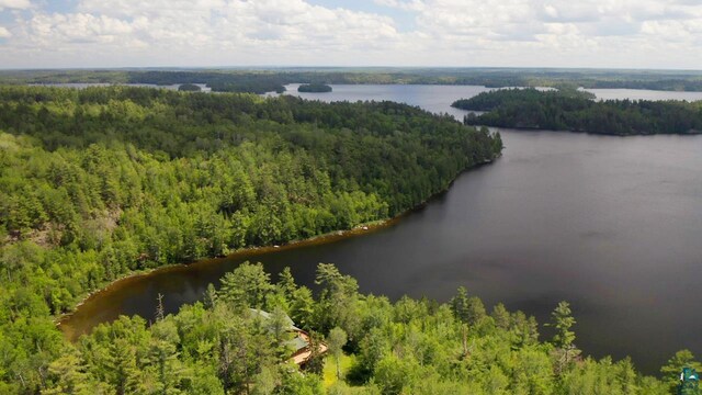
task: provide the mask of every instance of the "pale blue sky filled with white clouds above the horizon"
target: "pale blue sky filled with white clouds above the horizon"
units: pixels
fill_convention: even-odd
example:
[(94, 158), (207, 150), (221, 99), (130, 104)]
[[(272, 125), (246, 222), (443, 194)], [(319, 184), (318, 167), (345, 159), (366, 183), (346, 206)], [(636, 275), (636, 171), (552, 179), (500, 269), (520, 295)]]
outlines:
[(0, 68), (702, 69), (702, 0), (0, 0)]

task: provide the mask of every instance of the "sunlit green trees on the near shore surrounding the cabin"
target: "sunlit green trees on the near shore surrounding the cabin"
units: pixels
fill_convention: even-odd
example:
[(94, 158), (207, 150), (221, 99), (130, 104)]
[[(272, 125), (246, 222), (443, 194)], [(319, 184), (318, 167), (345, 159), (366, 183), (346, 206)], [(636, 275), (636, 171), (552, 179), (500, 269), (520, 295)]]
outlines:
[[(121, 317), (65, 345), (33, 385), (44, 394), (672, 394), (689, 351), (641, 375), (629, 359), (595, 360), (576, 347), (569, 305), (555, 306), (554, 336), (498, 304), (489, 313), (463, 287), (448, 304), (362, 295), (332, 264), (317, 269), (317, 295), (285, 269), (276, 283), (242, 263), (203, 301), (147, 319)], [(250, 308), (270, 312), (269, 317)], [(312, 335), (298, 368), (287, 317)], [(10, 370), (15, 373), (14, 366)], [(38, 377), (41, 375), (41, 377)], [(24, 380), (31, 377), (25, 376)], [(24, 391), (14, 380), (7, 391)]]

